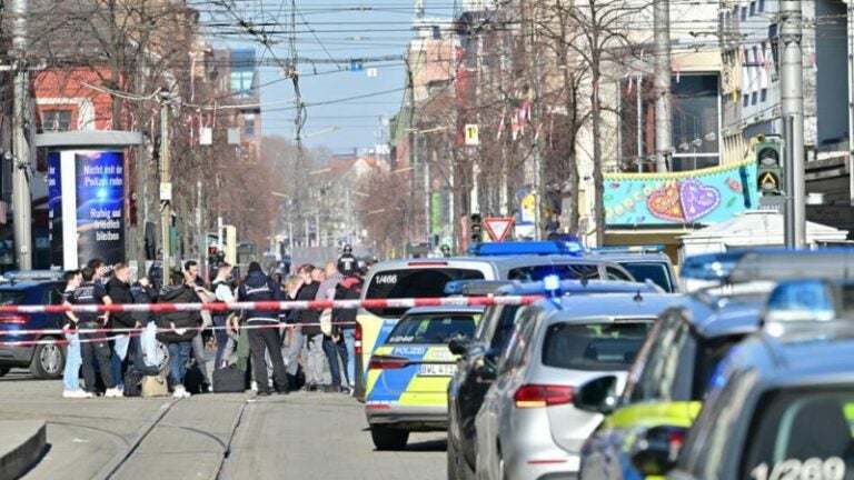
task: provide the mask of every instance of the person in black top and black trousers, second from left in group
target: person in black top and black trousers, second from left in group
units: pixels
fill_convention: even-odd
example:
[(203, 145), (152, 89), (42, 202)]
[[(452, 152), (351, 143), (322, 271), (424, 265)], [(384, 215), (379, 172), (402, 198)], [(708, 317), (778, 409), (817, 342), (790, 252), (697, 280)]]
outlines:
[[(90, 267), (83, 269), (82, 282), (66, 300), (68, 304), (112, 304), (112, 300), (107, 294), (103, 287), (95, 283), (95, 269)], [(95, 366), (92, 362), (98, 361), (101, 381), (106, 388), (103, 396), (121, 397), (121, 391), (116, 388), (116, 382), (112, 378), (110, 366), (112, 351), (110, 350), (110, 342), (108, 341), (107, 333), (103, 331), (107, 329), (109, 318), (109, 312), (101, 314), (92, 312), (71, 313), (71, 320), (77, 323), (81, 330), (102, 330), (100, 332), (80, 333), (80, 353), (83, 360), (83, 380), (86, 381), (86, 390), (92, 394), (97, 394)]]

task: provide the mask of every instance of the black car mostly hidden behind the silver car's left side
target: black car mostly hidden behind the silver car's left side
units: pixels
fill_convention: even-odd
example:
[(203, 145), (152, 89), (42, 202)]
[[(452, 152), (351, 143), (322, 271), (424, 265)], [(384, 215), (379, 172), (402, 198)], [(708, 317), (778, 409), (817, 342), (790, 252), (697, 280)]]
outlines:
[[(455, 286), (450, 286), (455, 287)], [(577, 281), (565, 280), (556, 291), (546, 289), (545, 282), (496, 282), (471, 281), (460, 286), (463, 294), (529, 296), (529, 294), (595, 294), (595, 293), (654, 293), (661, 289), (655, 284), (625, 281)], [(481, 362), (495, 362), (504, 352), (516, 326), (516, 319), (524, 311), (518, 304), (494, 304), (487, 307), (477, 326), (475, 336), (468, 341), (451, 341), (453, 353), (459, 354), (457, 372), (448, 383), (448, 479), (474, 478), (475, 416), (480, 409), (490, 380), (475, 373)]]

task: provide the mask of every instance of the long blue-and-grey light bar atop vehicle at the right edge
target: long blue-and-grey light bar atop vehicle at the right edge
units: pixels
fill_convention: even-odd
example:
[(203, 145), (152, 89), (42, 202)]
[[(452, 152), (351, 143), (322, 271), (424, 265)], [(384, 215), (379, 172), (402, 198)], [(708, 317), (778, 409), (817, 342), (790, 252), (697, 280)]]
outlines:
[(802, 278), (854, 279), (854, 249), (759, 249), (688, 257), (683, 279), (745, 283)]

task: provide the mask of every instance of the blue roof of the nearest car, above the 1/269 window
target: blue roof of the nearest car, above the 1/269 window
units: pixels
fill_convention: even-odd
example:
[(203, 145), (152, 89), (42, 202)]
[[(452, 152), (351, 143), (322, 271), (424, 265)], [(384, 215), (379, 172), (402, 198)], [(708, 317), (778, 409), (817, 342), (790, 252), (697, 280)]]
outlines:
[(754, 369), (773, 386), (854, 382), (852, 320), (812, 322), (779, 336), (763, 331), (739, 343), (732, 357), (736, 369)]

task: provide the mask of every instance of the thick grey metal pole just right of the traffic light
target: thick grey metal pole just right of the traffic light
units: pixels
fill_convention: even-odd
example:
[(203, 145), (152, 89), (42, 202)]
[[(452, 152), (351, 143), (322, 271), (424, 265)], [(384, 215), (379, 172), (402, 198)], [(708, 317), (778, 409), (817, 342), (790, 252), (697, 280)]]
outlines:
[(786, 140), (786, 200), (784, 214), (785, 246), (806, 243), (806, 208), (804, 186), (804, 67), (801, 49), (801, 0), (779, 2), (779, 90), (783, 133)]

